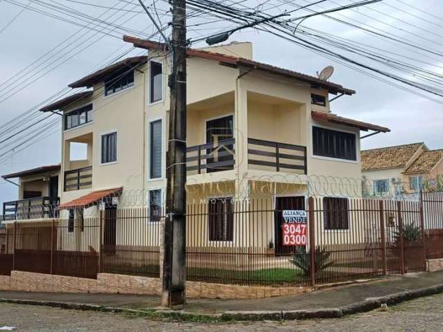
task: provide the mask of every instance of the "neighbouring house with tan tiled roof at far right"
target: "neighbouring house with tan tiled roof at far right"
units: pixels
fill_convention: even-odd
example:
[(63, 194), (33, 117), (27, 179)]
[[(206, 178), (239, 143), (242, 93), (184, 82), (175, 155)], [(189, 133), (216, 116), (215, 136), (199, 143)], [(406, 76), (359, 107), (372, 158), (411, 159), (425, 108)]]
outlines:
[(414, 194), (443, 171), (442, 150), (423, 142), (361, 151), (361, 170), (374, 196)]

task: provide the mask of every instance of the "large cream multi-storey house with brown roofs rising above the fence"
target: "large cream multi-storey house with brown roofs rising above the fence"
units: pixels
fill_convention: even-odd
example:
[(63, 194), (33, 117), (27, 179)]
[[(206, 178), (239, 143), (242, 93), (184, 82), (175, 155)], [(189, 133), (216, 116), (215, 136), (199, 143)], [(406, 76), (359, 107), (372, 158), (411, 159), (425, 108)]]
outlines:
[[(69, 86), (91, 90), (41, 109), (64, 119), (59, 196), (70, 223), (84, 208), (97, 215), (143, 199), (152, 221), (161, 214), (170, 56), (164, 44), (125, 40), (147, 49), (147, 56), (83, 77)], [(310, 176), (361, 178), (360, 131), (389, 131), (332, 113), (329, 94), (354, 91), (255, 62), (250, 43), (189, 49), (187, 71), (188, 203), (211, 200), (210, 209), (224, 214), (208, 211), (210, 241), (233, 238), (225, 199), (267, 195), (275, 198), (269, 210), (304, 210)], [(73, 143), (84, 145), (84, 160), (71, 158)], [(347, 206), (345, 197), (325, 204)], [(339, 224), (334, 218), (331, 225)], [(115, 226), (110, 232), (105, 237), (116, 236)]]

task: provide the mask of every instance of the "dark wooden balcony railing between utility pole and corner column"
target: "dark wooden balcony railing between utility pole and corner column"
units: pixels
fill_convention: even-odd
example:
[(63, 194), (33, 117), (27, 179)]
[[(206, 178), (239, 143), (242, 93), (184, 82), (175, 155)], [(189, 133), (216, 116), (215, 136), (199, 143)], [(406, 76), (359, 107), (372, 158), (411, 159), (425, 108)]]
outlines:
[(219, 140), (186, 149), (186, 170), (197, 174), (226, 171), (235, 165), (235, 139)]

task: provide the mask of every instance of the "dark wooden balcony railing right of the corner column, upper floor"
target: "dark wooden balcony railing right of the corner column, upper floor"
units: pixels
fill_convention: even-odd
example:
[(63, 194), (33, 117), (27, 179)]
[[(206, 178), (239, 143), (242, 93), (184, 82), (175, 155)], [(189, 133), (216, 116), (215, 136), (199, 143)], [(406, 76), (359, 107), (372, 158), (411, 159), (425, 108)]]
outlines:
[(248, 165), (275, 172), (307, 174), (306, 147), (248, 138)]

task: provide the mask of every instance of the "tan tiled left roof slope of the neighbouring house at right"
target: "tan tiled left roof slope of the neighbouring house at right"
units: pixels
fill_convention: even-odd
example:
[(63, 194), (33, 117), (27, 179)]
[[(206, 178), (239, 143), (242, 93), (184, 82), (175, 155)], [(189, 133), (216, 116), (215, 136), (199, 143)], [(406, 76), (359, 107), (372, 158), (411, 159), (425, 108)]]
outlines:
[(361, 170), (406, 167), (410, 158), (413, 157), (422, 145), (424, 143), (363, 150), (361, 151)]

